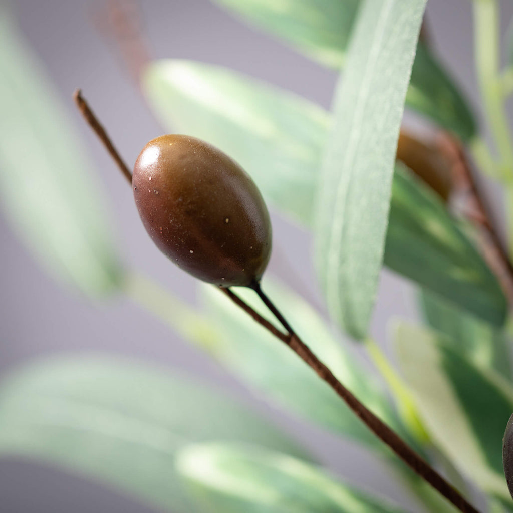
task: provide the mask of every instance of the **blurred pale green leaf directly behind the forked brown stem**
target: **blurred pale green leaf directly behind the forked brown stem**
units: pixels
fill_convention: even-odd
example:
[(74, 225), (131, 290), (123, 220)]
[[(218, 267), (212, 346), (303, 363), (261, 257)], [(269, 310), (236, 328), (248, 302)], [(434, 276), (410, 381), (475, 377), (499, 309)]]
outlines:
[[(382, 386), (362, 368), (347, 346), (334, 339), (326, 322), (283, 286), (265, 279), (264, 288), (299, 336), (319, 359), (329, 365), (333, 374), (376, 415), (401, 430)], [(254, 323), (219, 290), (203, 285), (202, 292), (210, 322), (218, 326), (220, 333), (215, 340), (209, 339), (208, 349), (240, 380), (316, 424), (374, 450), (383, 449), (382, 443), (337, 394), (290, 348)], [(272, 322), (272, 316), (253, 290), (240, 288), (237, 293)], [(402, 432), (407, 436), (404, 429)]]

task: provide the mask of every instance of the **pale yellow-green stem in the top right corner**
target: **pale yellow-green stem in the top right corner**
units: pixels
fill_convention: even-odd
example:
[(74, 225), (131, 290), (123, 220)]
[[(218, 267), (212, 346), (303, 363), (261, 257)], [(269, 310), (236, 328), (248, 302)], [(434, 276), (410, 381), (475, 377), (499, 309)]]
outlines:
[(513, 174), (511, 132), (504, 110), (504, 90), (499, 75), (499, 6), (497, 0), (474, 0), (474, 43), (476, 68), (485, 106), (485, 114), (506, 166)]

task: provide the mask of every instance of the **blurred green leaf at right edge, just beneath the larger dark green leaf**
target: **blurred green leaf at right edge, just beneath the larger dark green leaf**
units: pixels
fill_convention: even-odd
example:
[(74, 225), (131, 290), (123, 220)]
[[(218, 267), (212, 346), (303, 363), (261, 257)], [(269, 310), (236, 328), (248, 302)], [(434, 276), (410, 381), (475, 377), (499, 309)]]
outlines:
[(504, 331), (426, 291), (421, 293), (420, 300), (428, 324), (444, 333), (458, 351), (476, 365), (495, 369), (511, 379), (511, 357)]

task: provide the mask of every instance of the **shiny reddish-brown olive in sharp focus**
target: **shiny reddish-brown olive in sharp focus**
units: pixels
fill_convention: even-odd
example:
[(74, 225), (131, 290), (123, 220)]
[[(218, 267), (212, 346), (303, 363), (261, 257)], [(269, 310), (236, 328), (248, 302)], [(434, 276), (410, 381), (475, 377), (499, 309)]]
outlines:
[(271, 252), (271, 223), (250, 176), (188, 135), (162, 135), (137, 157), (135, 204), (153, 242), (175, 264), (223, 287), (254, 286)]

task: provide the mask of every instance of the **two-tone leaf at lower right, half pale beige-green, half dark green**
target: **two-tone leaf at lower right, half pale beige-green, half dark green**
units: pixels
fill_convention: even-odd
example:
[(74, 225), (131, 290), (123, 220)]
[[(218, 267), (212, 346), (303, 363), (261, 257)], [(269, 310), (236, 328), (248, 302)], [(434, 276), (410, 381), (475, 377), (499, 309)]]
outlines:
[(399, 365), (433, 441), (459, 471), (489, 494), (510, 501), (502, 469), (502, 437), (513, 388), (476, 366), (454, 344), (401, 323)]

